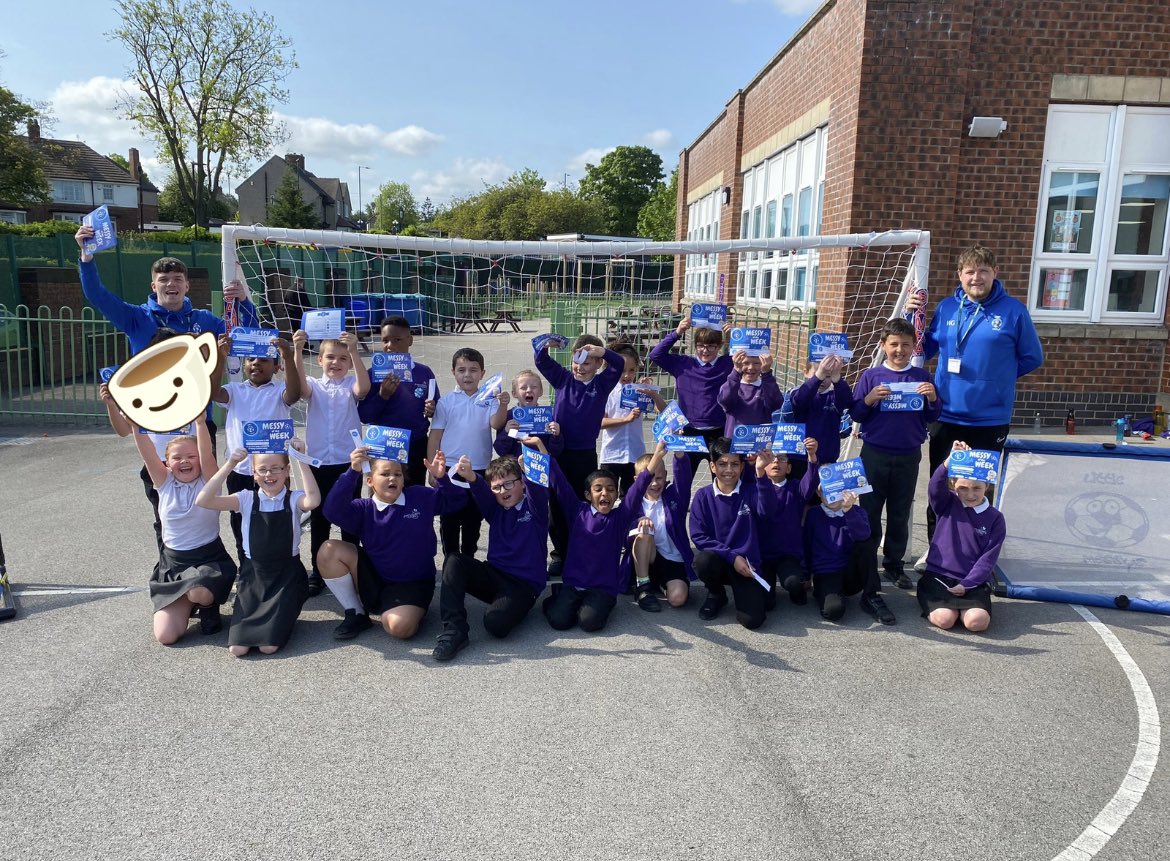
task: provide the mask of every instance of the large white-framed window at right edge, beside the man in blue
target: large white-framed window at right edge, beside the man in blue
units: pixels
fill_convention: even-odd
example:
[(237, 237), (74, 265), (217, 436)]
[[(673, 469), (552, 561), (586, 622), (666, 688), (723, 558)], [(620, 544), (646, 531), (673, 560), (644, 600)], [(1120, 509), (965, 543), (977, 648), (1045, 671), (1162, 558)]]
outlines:
[(1170, 110), (1052, 105), (1028, 306), (1038, 321), (1159, 324), (1170, 277)]

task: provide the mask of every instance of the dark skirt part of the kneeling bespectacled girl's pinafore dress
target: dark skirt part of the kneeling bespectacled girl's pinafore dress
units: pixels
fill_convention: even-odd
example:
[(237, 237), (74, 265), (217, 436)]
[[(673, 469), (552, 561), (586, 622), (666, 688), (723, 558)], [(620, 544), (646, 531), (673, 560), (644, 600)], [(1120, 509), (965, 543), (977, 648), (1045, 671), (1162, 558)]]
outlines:
[(245, 559), (235, 587), (228, 646), (284, 646), (309, 597), (301, 557), (282, 562)]

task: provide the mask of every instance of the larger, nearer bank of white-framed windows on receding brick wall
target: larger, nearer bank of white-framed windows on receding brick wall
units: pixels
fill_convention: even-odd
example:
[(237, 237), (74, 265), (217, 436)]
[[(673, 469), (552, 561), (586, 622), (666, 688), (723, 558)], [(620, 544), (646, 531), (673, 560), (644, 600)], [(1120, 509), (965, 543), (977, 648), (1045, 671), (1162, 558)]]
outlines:
[[(744, 172), (741, 239), (820, 233), (827, 142), (828, 130), (815, 129)], [(815, 249), (742, 254), (737, 295), (748, 302), (812, 305), (818, 264)]]

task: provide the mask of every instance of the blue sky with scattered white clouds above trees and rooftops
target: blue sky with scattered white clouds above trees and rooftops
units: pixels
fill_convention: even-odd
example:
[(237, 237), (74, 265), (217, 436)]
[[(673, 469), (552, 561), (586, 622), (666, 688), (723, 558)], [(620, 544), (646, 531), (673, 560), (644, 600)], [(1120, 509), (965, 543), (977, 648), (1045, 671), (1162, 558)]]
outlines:
[[(102, 2), (7, 4), (0, 83), (49, 103), (46, 136), (99, 152), (154, 146), (113, 106), (129, 57), (105, 37)], [(269, 12), (300, 68), (278, 105), (319, 177), (340, 177), (358, 206), (387, 180), (435, 204), (531, 167), (574, 185), (622, 144), (645, 144), (667, 173), (821, 0), (232, 0)], [(233, 170), (239, 184), (255, 165)]]

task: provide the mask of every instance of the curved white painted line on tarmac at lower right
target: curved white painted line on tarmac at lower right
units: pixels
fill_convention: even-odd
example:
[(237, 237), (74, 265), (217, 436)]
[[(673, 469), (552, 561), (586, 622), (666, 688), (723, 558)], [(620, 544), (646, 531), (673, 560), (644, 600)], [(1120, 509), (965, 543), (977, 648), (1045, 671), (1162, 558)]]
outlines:
[(1150, 690), (1141, 668), (1100, 619), (1085, 607), (1076, 604), (1072, 606), (1104, 641), (1106, 647), (1113, 653), (1129, 680), (1129, 687), (1134, 691), (1134, 702), (1137, 703), (1137, 750), (1134, 751), (1134, 760), (1129, 764), (1126, 779), (1121, 781), (1121, 786), (1109, 799), (1109, 804), (1096, 814), (1096, 818), (1089, 822), (1080, 836), (1053, 861), (1089, 861), (1104, 848), (1104, 845), (1126, 824), (1129, 814), (1137, 808), (1145, 794), (1150, 778), (1158, 764), (1158, 751), (1162, 744), (1158, 705), (1154, 701), (1154, 691)]

